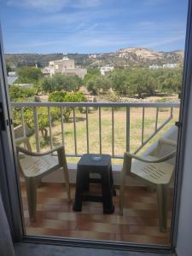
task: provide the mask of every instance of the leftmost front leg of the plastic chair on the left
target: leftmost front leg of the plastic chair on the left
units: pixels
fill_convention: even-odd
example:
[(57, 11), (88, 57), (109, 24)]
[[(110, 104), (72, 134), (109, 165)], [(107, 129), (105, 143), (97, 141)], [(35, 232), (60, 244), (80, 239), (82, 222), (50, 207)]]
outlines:
[(37, 188), (38, 181), (36, 177), (26, 178), (26, 195), (28, 202), (29, 218), (31, 221), (35, 221), (36, 219)]

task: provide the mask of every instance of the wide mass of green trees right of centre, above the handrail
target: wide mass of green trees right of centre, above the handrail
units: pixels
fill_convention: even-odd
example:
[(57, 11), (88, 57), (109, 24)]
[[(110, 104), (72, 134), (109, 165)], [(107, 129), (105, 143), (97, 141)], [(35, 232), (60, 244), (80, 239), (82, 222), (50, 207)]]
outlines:
[(122, 96), (154, 96), (156, 92), (179, 94), (182, 84), (181, 68), (126, 68), (115, 69), (102, 76), (88, 73), (84, 77), (87, 89), (93, 94), (108, 93), (112, 88)]

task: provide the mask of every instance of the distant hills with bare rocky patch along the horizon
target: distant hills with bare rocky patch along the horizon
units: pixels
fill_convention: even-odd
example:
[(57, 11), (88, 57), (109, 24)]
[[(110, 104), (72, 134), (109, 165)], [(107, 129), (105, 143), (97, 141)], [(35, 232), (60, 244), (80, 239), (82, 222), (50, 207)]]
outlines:
[[(147, 48), (125, 48), (115, 52), (102, 54), (68, 54), (68, 58), (74, 59), (76, 65), (81, 67), (101, 67), (111, 65), (114, 67), (148, 67), (149, 65), (163, 65), (177, 63), (183, 65), (183, 51), (169, 52), (154, 51)], [(55, 54), (6, 54), (5, 60), (10, 67), (35, 66), (45, 67), (49, 61), (60, 60), (62, 53)]]

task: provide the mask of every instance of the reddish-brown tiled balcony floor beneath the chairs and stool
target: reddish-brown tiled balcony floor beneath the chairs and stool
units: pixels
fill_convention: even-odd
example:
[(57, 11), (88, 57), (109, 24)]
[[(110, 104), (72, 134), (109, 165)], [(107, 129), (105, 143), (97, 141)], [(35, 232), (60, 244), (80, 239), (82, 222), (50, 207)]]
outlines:
[[(98, 189), (96, 185), (91, 186), (93, 192), (98, 192)], [(116, 191), (117, 196), (113, 197), (113, 214), (103, 214), (102, 203), (98, 202), (84, 202), (82, 212), (73, 212), (72, 204), (67, 203), (63, 184), (42, 183), (38, 188), (37, 221), (30, 223), (25, 183), (21, 183), (26, 234), (168, 245), (172, 196), (169, 203), (168, 229), (166, 233), (160, 233), (155, 192), (141, 187), (126, 189), (124, 216), (119, 216), (119, 189)], [(74, 186), (72, 195), (74, 198)]]

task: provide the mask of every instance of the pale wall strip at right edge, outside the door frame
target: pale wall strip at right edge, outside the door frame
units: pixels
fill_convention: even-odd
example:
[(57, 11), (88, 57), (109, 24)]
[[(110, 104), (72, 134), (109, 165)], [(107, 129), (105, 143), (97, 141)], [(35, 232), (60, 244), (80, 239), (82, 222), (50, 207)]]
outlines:
[[(192, 92), (190, 92), (192, 99)], [(183, 165), (183, 184), (177, 235), (178, 256), (192, 255), (192, 100), (189, 102), (189, 115)]]

